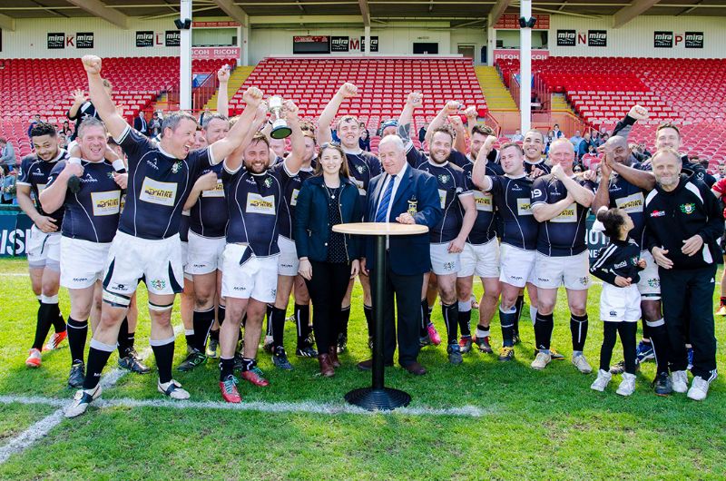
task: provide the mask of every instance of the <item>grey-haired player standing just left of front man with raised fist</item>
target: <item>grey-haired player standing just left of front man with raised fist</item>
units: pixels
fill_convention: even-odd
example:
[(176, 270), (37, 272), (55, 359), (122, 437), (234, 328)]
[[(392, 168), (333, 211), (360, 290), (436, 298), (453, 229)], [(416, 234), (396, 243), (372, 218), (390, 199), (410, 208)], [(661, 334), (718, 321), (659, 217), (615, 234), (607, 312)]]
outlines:
[[(68, 318), (68, 344), (71, 350), (71, 373), (68, 385), (83, 386), (85, 370), (83, 350), (88, 333), (88, 319), (95, 330), (100, 320), (103, 269), (113, 235), (118, 229), (121, 196), (126, 173), (118, 174), (105, 162), (106, 128), (94, 117), (83, 119), (78, 128), (77, 147), (68, 162), (58, 162), (40, 195), (45, 211), (64, 209), (61, 237), (61, 285), (71, 298)], [(82, 157), (80, 157), (82, 156)], [(83, 159), (81, 163), (74, 162)], [(77, 176), (80, 190), (72, 193), (68, 180)], [(93, 311), (93, 315), (92, 315)], [(128, 321), (119, 334), (119, 358), (128, 359), (132, 370), (145, 374), (151, 370), (126, 346)]]

